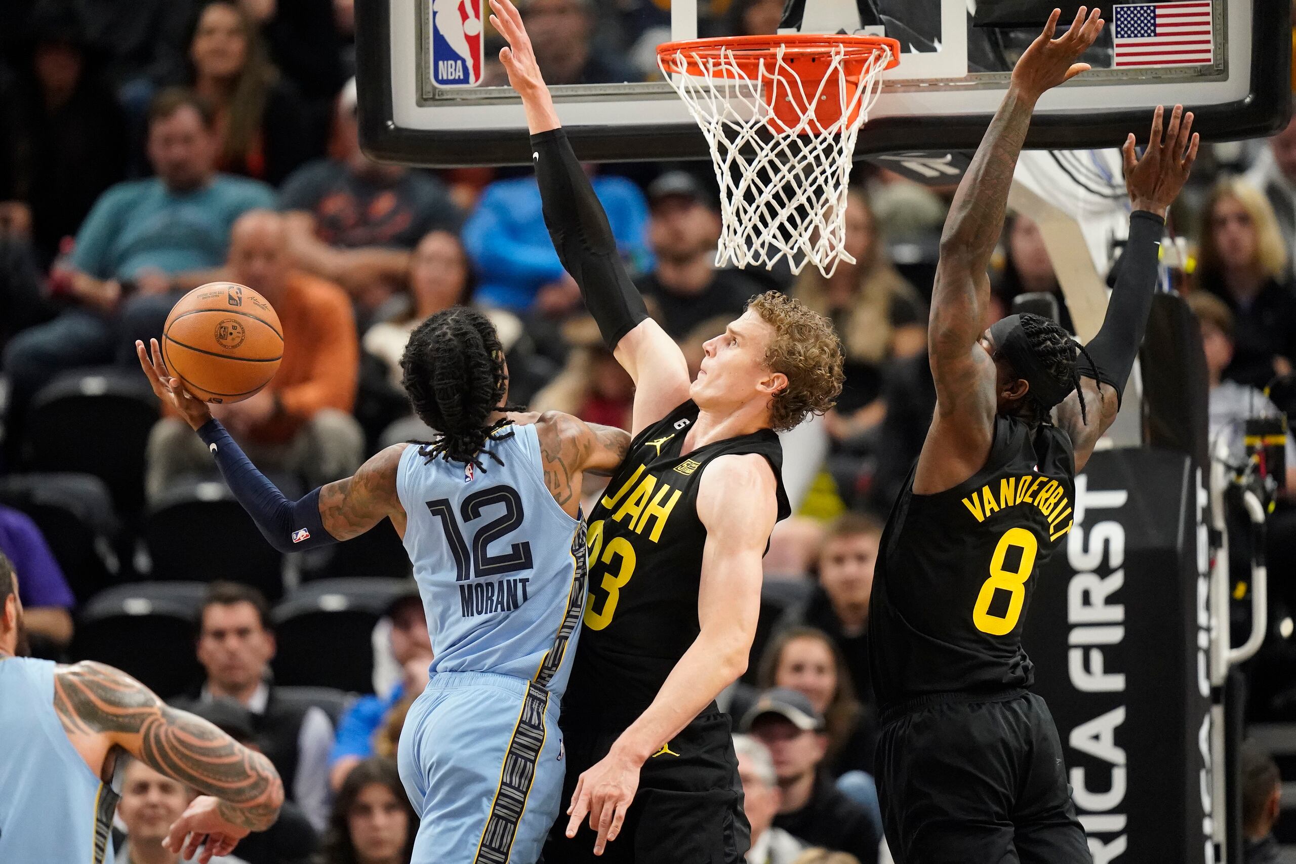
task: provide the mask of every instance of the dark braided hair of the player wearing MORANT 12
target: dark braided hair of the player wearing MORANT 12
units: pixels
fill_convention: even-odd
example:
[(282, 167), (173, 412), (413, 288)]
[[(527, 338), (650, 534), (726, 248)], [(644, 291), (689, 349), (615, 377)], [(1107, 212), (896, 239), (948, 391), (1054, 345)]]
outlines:
[(481, 455), (504, 462), (486, 449), (492, 440), (512, 438), (500, 431), (508, 420), (487, 422), (508, 392), (504, 347), (495, 325), (481, 312), (454, 306), (420, 324), (400, 358), (400, 383), (419, 420), (437, 430), (419, 455), (432, 462), (464, 462), (485, 470)]

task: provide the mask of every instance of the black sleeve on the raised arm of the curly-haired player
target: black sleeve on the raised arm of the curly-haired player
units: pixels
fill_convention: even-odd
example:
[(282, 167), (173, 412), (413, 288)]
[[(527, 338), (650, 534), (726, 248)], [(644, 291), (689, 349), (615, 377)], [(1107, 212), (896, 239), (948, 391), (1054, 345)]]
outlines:
[(608, 214), (561, 128), (531, 136), (535, 179), (544, 203), (544, 224), (559, 260), (581, 286), (603, 341), (613, 351), (622, 337), (648, 317), (639, 289), (617, 251)]

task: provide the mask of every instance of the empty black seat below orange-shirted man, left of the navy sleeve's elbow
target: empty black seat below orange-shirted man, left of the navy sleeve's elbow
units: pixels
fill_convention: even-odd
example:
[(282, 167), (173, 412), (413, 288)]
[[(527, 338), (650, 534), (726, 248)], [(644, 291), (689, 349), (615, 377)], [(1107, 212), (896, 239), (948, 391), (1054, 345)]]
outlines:
[(266, 541), (220, 481), (172, 484), (144, 517), (152, 578), (231, 579), (273, 602), (284, 595), (284, 556)]

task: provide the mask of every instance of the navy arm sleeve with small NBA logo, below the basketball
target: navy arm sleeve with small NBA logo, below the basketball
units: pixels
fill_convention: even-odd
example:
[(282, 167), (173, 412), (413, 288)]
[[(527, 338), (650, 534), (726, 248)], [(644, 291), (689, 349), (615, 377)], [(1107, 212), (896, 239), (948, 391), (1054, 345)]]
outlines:
[(270, 545), (280, 552), (302, 552), (338, 543), (324, 530), (320, 490), (298, 501), (289, 501), (277, 486), (257, 470), (219, 420), (203, 424), (198, 429), (198, 438), (211, 451), (229, 491), (248, 510)]

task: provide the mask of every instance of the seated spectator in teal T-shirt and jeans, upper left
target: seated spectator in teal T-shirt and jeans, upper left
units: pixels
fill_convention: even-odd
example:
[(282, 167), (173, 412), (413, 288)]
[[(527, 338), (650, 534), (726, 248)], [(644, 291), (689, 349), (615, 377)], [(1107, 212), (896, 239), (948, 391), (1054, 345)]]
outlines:
[(149, 158), (158, 176), (119, 183), (100, 196), (67, 269), (54, 280), (73, 306), (5, 348), (13, 413), (66, 369), (114, 356), (133, 367), (135, 346), (122, 334), (159, 335), (161, 328), (150, 328), (171, 307), (172, 281), (184, 273), (201, 280), (193, 272), (219, 267), (235, 219), (273, 203), (270, 187), (215, 172), (214, 118), (194, 93), (163, 91), (149, 118)]

